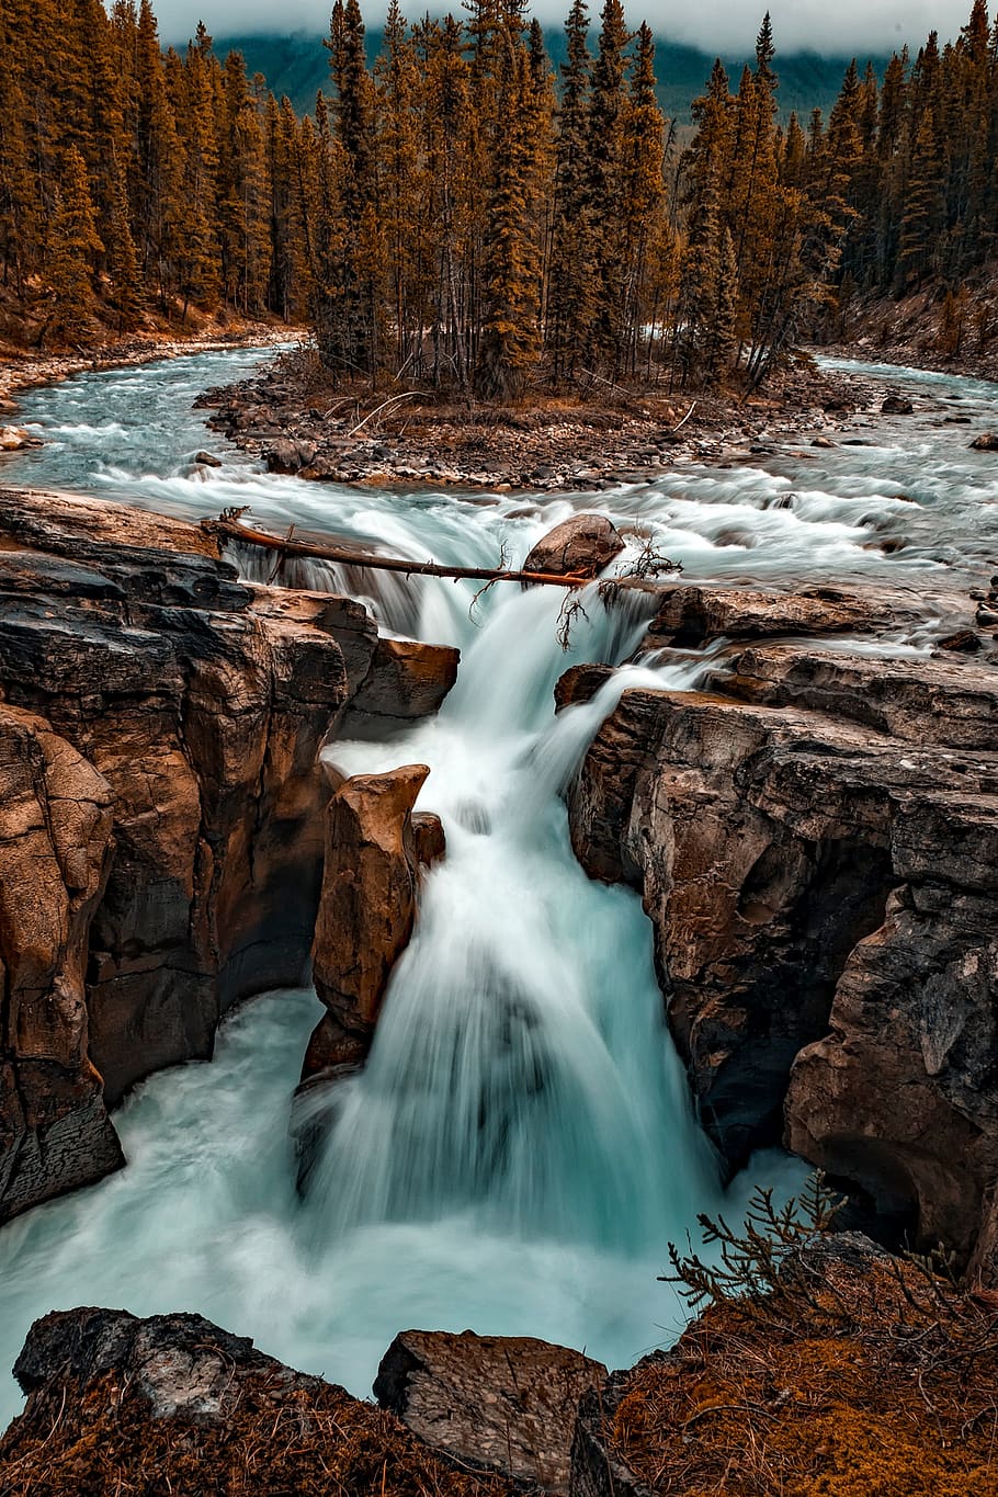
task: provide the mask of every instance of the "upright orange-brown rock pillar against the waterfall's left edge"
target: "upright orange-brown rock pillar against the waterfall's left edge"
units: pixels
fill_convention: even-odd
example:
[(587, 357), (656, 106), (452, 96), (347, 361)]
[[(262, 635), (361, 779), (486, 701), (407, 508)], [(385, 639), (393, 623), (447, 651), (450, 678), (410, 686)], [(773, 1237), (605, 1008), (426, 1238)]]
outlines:
[[(358, 774), (326, 810), (326, 850), (313, 946), (316, 993), (328, 1009), (302, 1079), (326, 1064), (359, 1063), (370, 1048), (392, 969), (416, 922), (419, 844), (413, 805), (429, 769)], [(331, 1060), (335, 1057), (335, 1060)]]

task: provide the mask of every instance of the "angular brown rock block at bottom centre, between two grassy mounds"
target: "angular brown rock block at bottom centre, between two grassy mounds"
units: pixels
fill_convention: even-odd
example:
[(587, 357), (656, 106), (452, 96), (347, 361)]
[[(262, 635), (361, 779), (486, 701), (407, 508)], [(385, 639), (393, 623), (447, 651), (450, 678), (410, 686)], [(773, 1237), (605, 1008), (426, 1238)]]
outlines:
[(374, 1395), (461, 1467), (567, 1493), (579, 1398), (604, 1379), (601, 1362), (531, 1337), (404, 1331), (382, 1358)]

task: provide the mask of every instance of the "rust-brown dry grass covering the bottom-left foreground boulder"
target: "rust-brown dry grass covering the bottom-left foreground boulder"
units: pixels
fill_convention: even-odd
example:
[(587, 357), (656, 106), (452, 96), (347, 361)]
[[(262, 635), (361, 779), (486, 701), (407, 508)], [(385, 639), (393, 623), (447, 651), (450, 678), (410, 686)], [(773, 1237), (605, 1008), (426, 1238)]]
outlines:
[[(43, 1400), (34, 1403), (34, 1400)], [(241, 1376), (220, 1422), (153, 1419), (109, 1373), (46, 1388), (0, 1442), (1, 1497), (507, 1497), (389, 1413), (317, 1380)]]

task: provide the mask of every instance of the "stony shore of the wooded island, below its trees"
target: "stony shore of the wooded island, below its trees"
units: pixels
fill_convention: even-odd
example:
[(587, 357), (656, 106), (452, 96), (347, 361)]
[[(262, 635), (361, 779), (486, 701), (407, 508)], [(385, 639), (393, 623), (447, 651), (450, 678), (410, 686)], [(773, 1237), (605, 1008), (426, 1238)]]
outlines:
[(408, 391), (344, 394), (314, 353), (301, 350), (206, 391), (198, 406), (211, 412), (212, 430), (274, 473), (371, 487), (596, 493), (651, 482), (682, 463), (741, 463), (795, 443), (833, 445), (853, 416), (875, 412), (887, 392), (805, 358), (744, 401), (600, 382), (585, 400), (441, 404)]

